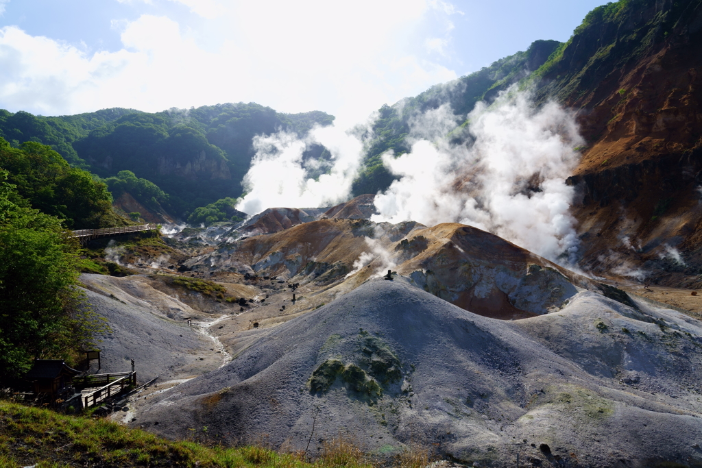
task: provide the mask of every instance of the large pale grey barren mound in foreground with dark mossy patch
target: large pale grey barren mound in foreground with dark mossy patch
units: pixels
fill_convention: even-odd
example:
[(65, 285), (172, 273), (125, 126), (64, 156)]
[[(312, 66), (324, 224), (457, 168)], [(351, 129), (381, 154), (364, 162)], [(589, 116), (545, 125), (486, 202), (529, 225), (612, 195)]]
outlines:
[(261, 330), (227, 366), (146, 402), (136, 425), (228, 443), (267, 434), (281, 448), (311, 439), (312, 453), (347, 431), (371, 453), (414, 443), (480, 466), (517, 453), (534, 466), (702, 464), (701, 324), (639, 306), (585, 291), (500, 321), (373, 279)]

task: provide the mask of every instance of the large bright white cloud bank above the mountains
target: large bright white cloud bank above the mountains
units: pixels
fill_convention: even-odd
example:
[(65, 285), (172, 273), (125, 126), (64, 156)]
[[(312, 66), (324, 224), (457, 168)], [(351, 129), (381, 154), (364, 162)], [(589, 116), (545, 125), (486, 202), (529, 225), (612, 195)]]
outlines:
[(457, 77), (407, 46), (430, 11), (446, 10), (428, 0), (171, 1), (215, 19), (200, 29), (167, 16), (114, 20), (124, 48), (97, 53), (0, 28), (0, 107), (71, 114), (254, 101), (349, 123)]

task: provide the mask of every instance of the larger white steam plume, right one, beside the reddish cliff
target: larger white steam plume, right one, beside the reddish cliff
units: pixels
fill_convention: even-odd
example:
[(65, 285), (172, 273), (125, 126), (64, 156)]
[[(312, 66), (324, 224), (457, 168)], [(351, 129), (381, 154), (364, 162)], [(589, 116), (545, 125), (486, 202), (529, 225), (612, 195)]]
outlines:
[(383, 156), (399, 180), (376, 196), (379, 214), (371, 220), (461, 222), (574, 264), (574, 189), (565, 184), (579, 159), (574, 147), (583, 142), (574, 114), (553, 102), (535, 109), (528, 93), (512, 90), (490, 107), (479, 102), (468, 119), (469, 147), (423, 139), (455, 126), (448, 107), (414, 122), (411, 152)]

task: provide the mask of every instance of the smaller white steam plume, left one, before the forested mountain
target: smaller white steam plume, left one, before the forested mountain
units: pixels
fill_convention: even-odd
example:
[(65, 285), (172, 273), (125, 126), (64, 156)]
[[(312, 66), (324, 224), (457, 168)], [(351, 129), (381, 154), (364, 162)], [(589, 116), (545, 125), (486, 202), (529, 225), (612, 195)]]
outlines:
[[(331, 161), (304, 161), (310, 143), (326, 147)], [(312, 208), (347, 200), (363, 152), (356, 136), (335, 126), (315, 127), (303, 140), (286, 132), (259, 135), (253, 138), (253, 147), (256, 155), (244, 177), (248, 193), (237, 204), (237, 210), (249, 215), (279, 206)], [(326, 173), (317, 180), (310, 178), (310, 171), (324, 166)]]

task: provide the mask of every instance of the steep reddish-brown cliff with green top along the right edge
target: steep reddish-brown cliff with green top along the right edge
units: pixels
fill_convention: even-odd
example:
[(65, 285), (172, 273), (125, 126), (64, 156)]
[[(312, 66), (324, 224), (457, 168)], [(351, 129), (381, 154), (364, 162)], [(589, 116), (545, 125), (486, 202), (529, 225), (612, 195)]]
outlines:
[(583, 266), (597, 274), (698, 286), (699, 44), (701, 1), (620, 1), (588, 14), (537, 72), (539, 98), (576, 109), (588, 142), (568, 182)]

